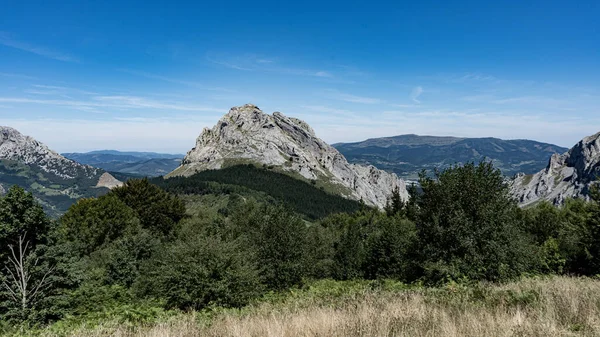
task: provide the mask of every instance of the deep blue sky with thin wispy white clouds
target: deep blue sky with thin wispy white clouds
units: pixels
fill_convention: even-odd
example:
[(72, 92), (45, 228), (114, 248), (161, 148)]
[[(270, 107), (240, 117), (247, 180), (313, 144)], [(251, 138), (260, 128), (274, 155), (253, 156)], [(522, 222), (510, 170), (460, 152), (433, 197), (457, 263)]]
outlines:
[(598, 1), (2, 7), (0, 125), (61, 152), (185, 152), (250, 102), (331, 143), (600, 131)]

